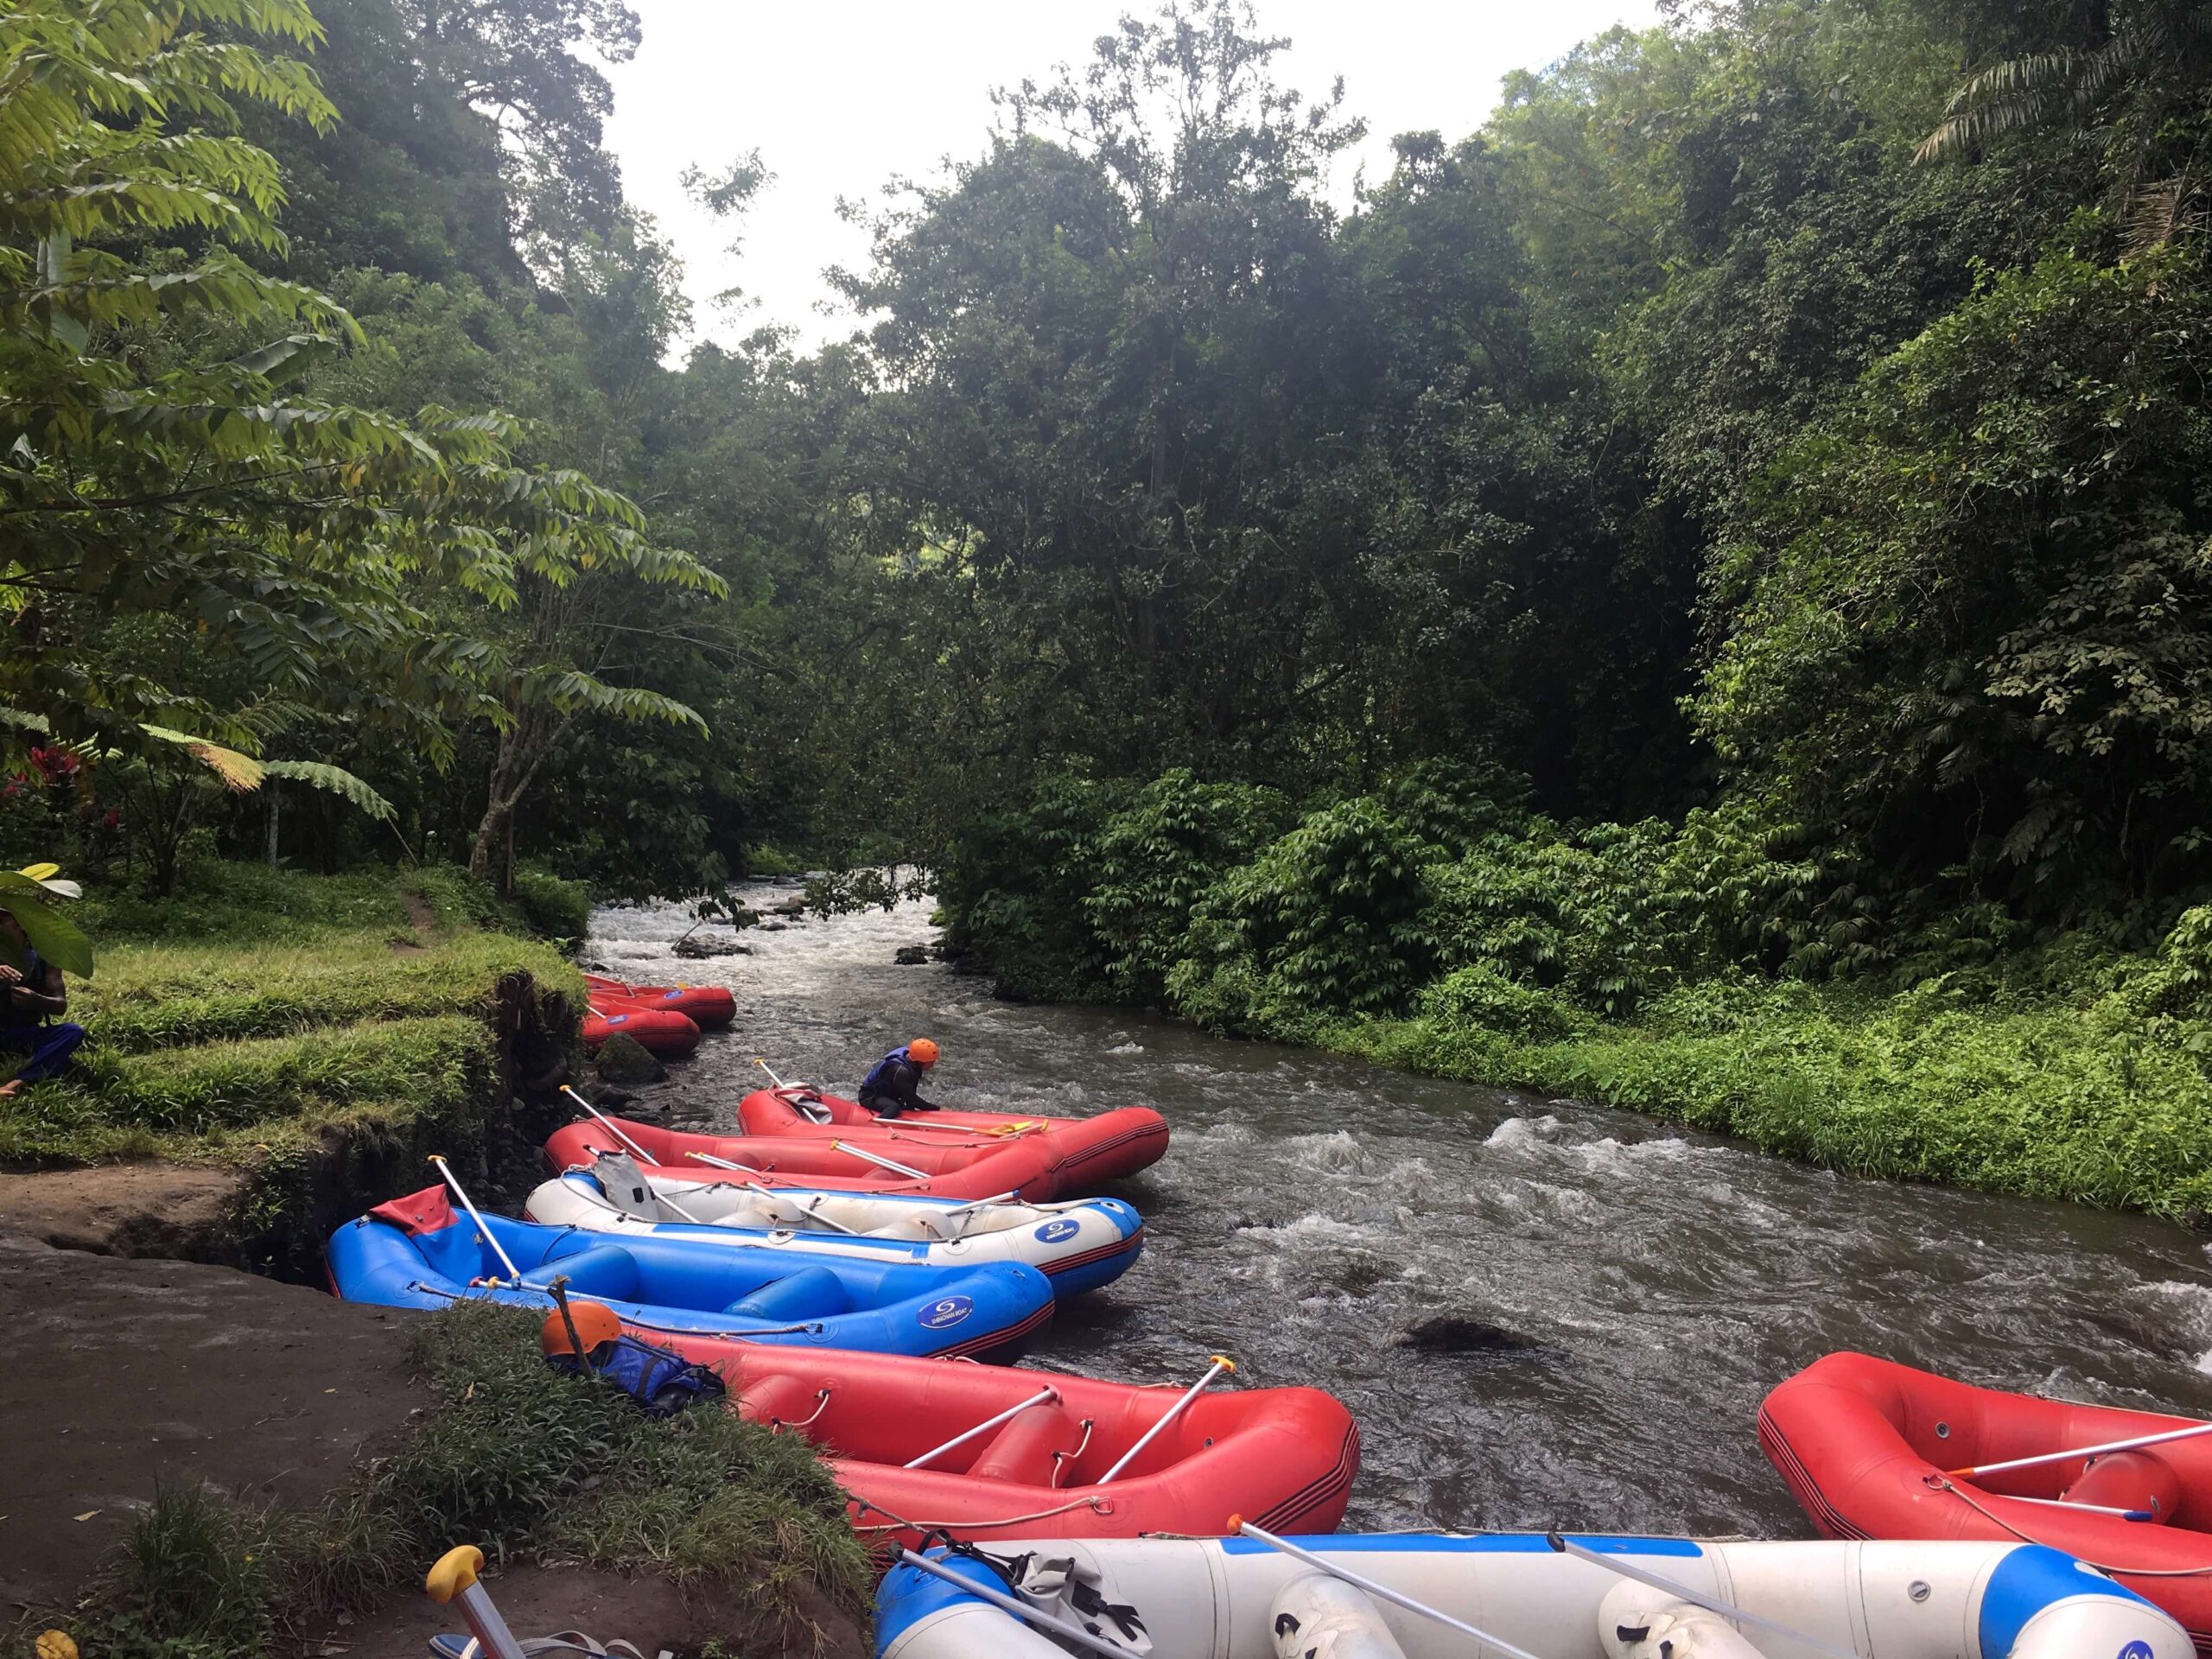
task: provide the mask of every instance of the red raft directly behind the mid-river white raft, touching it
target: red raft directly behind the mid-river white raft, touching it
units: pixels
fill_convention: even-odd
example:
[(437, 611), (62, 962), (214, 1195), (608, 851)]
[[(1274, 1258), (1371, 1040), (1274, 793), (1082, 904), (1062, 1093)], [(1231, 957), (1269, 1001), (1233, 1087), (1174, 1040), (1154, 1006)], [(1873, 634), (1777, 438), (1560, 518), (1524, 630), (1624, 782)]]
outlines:
[[(613, 1124), (613, 1128), (608, 1128)], [(896, 1146), (843, 1135), (692, 1135), (626, 1117), (602, 1124), (586, 1117), (553, 1130), (546, 1164), (555, 1170), (588, 1166), (599, 1152), (635, 1150), (644, 1168), (759, 1179), (761, 1186), (827, 1188), (834, 1192), (911, 1192), (936, 1199), (1060, 1197), (1060, 1161), (1037, 1139), (911, 1137)], [(721, 1170), (719, 1164), (739, 1170)], [(887, 1168), (896, 1164), (898, 1168)], [(909, 1175), (911, 1170), (911, 1175)]]

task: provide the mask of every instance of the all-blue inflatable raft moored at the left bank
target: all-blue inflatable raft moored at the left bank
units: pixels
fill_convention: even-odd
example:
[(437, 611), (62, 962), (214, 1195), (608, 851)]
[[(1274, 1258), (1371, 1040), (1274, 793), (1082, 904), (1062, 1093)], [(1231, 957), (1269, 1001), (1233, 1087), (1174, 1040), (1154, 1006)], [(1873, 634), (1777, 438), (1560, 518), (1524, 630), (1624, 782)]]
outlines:
[[(978, 1267), (790, 1256), (677, 1239), (606, 1239), (577, 1228), (453, 1214), (445, 1188), (425, 1188), (347, 1221), (330, 1239), (338, 1296), (385, 1307), (447, 1307), (462, 1296), (546, 1310), (546, 1285), (606, 1303), (648, 1340), (692, 1332), (754, 1343), (874, 1354), (1002, 1354), (1053, 1316), (1053, 1285), (1035, 1267)], [(493, 1248), (498, 1243), (498, 1250)], [(507, 1279), (500, 1250), (522, 1274)]]

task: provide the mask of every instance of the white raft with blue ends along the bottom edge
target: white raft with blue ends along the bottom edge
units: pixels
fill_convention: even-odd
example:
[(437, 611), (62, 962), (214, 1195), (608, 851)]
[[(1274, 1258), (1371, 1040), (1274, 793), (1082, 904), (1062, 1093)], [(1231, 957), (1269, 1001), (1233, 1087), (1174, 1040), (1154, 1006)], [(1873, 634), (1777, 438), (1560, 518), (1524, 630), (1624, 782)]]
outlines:
[[(1564, 1555), (1540, 1533), (1290, 1540), (1535, 1659), (2192, 1659), (2166, 1613), (2039, 1544), (1575, 1544), (1725, 1604)], [(1500, 1659), (1509, 1652), (1245, 1537), (993, 1544), (900, 1566), (876, 1599), (878, 1659), (1095, 1652), (987, 1597), (1015, 1597), (1150, 1659)], [(1765, 1619), (1772, 1624), (1759, 1624)], [(1781, 1632), (1774, 1626), (1787, 1630)]]

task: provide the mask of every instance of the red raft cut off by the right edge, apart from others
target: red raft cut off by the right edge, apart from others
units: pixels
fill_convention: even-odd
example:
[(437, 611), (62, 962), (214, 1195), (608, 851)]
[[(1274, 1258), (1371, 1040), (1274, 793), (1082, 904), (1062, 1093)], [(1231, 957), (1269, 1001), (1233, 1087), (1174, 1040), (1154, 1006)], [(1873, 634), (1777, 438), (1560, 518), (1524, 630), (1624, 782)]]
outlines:
[(2197, 1427), (1829, 1354), (1767, 1396), (1759, 1447), (1827, 1537), (2048, 1544), (2157, 1601), (2212, 1655), (2212, 1433), (2081, 1455)]

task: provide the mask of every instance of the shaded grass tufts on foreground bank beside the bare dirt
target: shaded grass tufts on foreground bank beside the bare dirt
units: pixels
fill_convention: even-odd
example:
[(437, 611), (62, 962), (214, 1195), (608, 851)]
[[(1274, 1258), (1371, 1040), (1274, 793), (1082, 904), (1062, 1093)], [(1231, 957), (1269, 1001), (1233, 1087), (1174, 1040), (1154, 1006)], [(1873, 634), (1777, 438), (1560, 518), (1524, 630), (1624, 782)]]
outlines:
[(416, 1595), (453, 1544), (710, 1593), (739, 1621), (739, 1652), (803, 1650), (825, 1615), (863, 1617), (867, 1553), (805, 1440), (717, 1407), (646, 1418), (613, 1385), (551, 1371), (538, 1316), (518, 1310), (456, 1305), (418, 1327), (414, 1352), (431, 1405), (392, 1455), (314, 1513), (164, 1489), (62, 1626), (88, 1655), (252, 1659), (279, 1632)]

